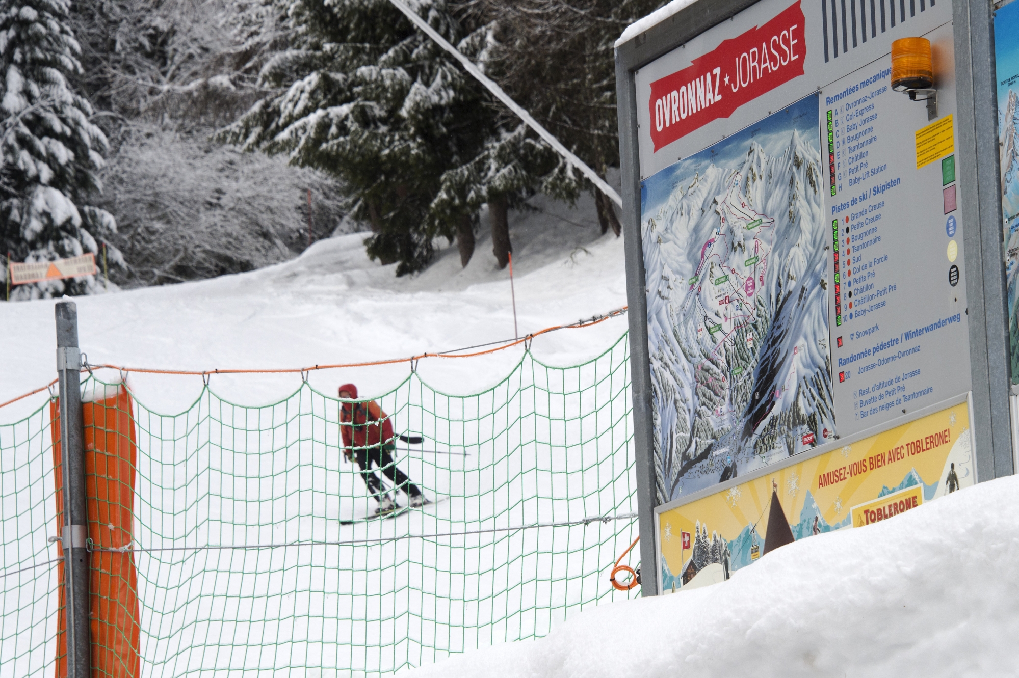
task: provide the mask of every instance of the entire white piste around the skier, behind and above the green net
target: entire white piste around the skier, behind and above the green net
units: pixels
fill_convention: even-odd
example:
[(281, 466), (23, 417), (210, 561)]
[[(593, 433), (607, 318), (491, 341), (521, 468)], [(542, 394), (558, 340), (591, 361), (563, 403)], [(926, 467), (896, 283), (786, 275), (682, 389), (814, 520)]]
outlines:
[[(600, 235), (590, 202), (569, 210), (539, 197), (531, 207), (513, 215), (511, 222), (521, 333), (624, 305), (623, 242), (611, 234)], [(498, 270), (486, 236), (479, 238), (466, 270), (461, 269), (455, 247), (445, 246), (432, 268), (403, 279), (393, 276), (393, 267), (366, 258), (364, 238), (364, 233), (331, 238), (293, 261), (249, 274), (77, 297), (81, 346), (93, 364), (208, 370), (371, 361), (514, 336), (508, 271)], [(0, 314), (7, 330), (0, 341), (6, 354), (18, 358), (3, 373), (2, 401), (52, 379), (53, 302), (0, 304)], [(309, 675), (320, 668), (324, 674), (328, 670), (388, 673), (465, 647), (541, 635), (549, 628), (550, 616), (565, 616), (581, 604), (625, 597), (612, 591), (604, 566), (636, 531), (628, 472), (632, 466), (628, 453), (632, 427), (626, 415), (628, 354), (626, 343), (619, 342), (626, 327), (622, 316), (591, 328), (551, 333), (532, 344), (536, 357), (560, 365), (586, 361), (614, 345), (607, 357), (571, 373), (578, 379), (606, 374), (603, 370), (619, 376), (605, 382), (607, 388), (586, 397), (585, 402), (605, 406), (599, 410), (596, 435), (588, 433), (583, 440), (580, 420), (575, 419), (561, 432), (556, 430), (551, 444), (536, 441), (528, 432), (549, 429), (539, 420), (540, 411), (516, 415), (496, 434), (483, 433), (493, 418), (507, 411), (507, 398), (516, 397), (517, 404), (527, 399), (527, 394), (518, 397), (520, 391), (513, 385), (526, 390), (532, 383), (528, 380), (546, 374), (535, 370), (534, 363), (521, 362), (524, 346), (489, 356), (420, 360), (417, 376), (380, 403), (395, 417), (398, 431), (428, 436), (425, 450), (440, 452), (398, 451), (400, 470), (420, 483), (435, 503), (389, 520), (364, 521), (376, 504), (366, 495), (356, 466), (344, 463), (335, 447), (330, 450), (338, 438), (335, 418), (327, 416), (314, 427), (311, 438), (297, 437), (300, 425), (289, 422), (294, 412), (301, 412), (297, 418), (302, 419), (307, 418), (304, 414), (325, 411), (326, 399), (345, 382), (358, 384), (363, 396), (378, 397), (408, 378), (408, 362), (312, 372), (312, 387), (325, 397), (307, 388), (299, 390), (298, 374), (212, 375), (215, 395), (199, 398), (203, 382), (197, 376), (128, 372), (127, 383), (140, 403), (135, 410), (139, 430), (144, 432), (138, 445), (140, 508), (132, 538), (145, 548), (192, 546), (195, 524), (201, 525), (202, 544), (250, 545), (375, 540), (393, 533), (459, 532), (479, 525), (502, 528), (536, 521), (578, 523), (483, 538), (452, 536), (438, 544), (398, 540), (328, 550), (277, 549), (270, 558), (260, 550), (215, 549), (140, 556), (141, 653), (144, 666), (151, 667), (145, 670), (165, 675), (209, 666), (224, 672), (297, 670), (290, 649), (300, 647), (308, 653), (304, 666)], [(100, 377), (117, 381), (121, 375), (107, 370)], [(443, 400), (445, 409), (436, 416), (408, 406), (413, 397), (434, 394), (421, 381), (459, 394), (477, 393), (503, 381), (511, 386), (494, 395)], [(100, 387), (87, 392), (86, 399), (111, 393)], [(0, 422), (16, 420), (43, 405), (47, 397), (44, 391), (0, 408)], [(258, 412), (245, 408), (238, 413), (220, 397), (242, 405), (285, 400)], [(540, 403), (535, 409), (541, 410)], [(186, 413), (162, 417), (151, 416), (151, 410)], [(224, 411), (229, 414), (223, 416)], [(261, 435), (244, 435), (250, 433), (246, 427), (253, 415), (260, 417)], [(447, 425), (459, 416), (478, 426), (458, 433), (460, 429)], [(33, 419), (34, 430), (44, 417), (45, 413)], [(438, 425), (436, 419), (441, 419)], [(176, 436), (175, 427), (183, 425), (189, 435)], [(33, 448), (23, 442), (23, 436), (19, 446), (11, 447), (12, 432), (33, 426), (0, 432), (6, 436), (0, 441), (6, 446), (6, 459), (35, 454), (33, 459), (43, 460), (32, 466), (29, 484), (19, 476), (22, 486), (31, 487), (6, 498), (5, 570), (45, 562), (56, 548), (47, 542), (53, 524), (53, 504), (46, 501), (53, 487), (47, 453), (41, 445)], [(33, 440), (45, 439), (44, 434)], [(206, 447), (202, 442), (224, 439), (228, 442), (222, 446)], [(273, 450), (271, 463), (253, 463), (253, 452), (265, 452), (267, 441), (275, 445), (280, 440), (286, 445)], [(579, 444), (573, 444), (575, 440)], [(459, 445), (458, 451), (470, 445), (470, 453), (441, 454), (451, 445)], [(509, 450), (513, 455), (506, 454)], [(202, 461), (196, 466), (185, 461), (191, 459)], [(12, 470), (5, 478), (18, 467), (8, 461), (6, 468)], [(221, 472), (231, 482), (219, 482)], [(566, 486), (553, 484), (552, 475), (570, 484), (554, 500), (546, 489)], [(15, 500), (40, 510), (13, 517)], [(406, 504), (404, 495), (398, 500)], [(186, 511), (181, 510), (184, 505)], [(591, 515), (623, 517), (579, 524)], [(474, 541), (465, 546), (470, 540)], [(460, 571), (451, 574), (450, 568), (458, 567)], [(280, 576), (284, 571), (288, 574)], [(326, 583), (319, 583), (322, 580), (316, 577), (325, 571), (330, 572)], [(371, 578), (379, 572), (384, 576)], [(542, 583), (535, 587), (538, 572)], [(227, 581), (224, 573), (252, 576)], [(7, 580), (4, 600), (16, 599), (19, 607), (0, 615), (4, 617), (0, 655), (6, 659), (21, 652), (16, 660), (18, 675), (43, 675), (52, 670), (48, 664), (56, 652), (52, 641), (19, 651), (25, 634), (12, 630), (42, 628), (39, 620), (55, 614), (52, 588), (41, 584), (54, 581), (56, 574), (51, 568), (32, 578), (23, 576), (43, 592), (25, 605), (19, 580)], [(365, 576), (371, 582), (367, 588)], [(423, 596), (405, 597), (410, 581), (421, 582), (415, 589)], [(251, 585), (258, 591), (254, 598), (248, 592)], [(311, 607), (292, 607), (306, 600), (309, 590), (315, 591)], [(217, 603), (210, 613), (211, 600)], [(372, 603), (365, 608), (365, 601)], [(440, 602), (438, 607), (429, 607), (435, 601)], [(436, 609), (440, 612), (433, 612)], [(300, 623), (288, 626), (285, 620), (294, 617)], [(284, 621), (277, 623), (277, 618)], [(340, 628), (346, 622), (359, 628), (359, 620), (367, 621), (362, 631), (337, 635), (333, 630), (330, 637), (328, 629), (336, 628), (337, 619)], [(473, 623), (458, 624), (458, 619)], [(265, 652), (258, 639), (263, 629), (272, 633), (273, 653)]]

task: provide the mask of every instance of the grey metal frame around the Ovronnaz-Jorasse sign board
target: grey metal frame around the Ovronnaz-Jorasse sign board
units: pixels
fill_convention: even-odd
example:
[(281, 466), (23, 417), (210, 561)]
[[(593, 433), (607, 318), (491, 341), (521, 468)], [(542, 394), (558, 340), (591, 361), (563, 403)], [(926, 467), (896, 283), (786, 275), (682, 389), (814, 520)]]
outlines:
[[(652, 450), (646, 283), (640, 229), (639, 104), (635, 74), (641, 67), (755, 4), (757, 0), (699, 0), (615, 50), (637, 498), (640, 532), (644, 535), (641, 540), (644, 596), (655, 596), (660, 591), (658, 577), (651, 571), (657, 568), (654, 512), (657, 500)], [(956, 154), (959, 176), (965, 177), (967, 183), (962, 194), (961, 211), (965, 223), (969, 225), (964, 239), (964, 262), (972, 380), (971, 426), (977, 477), (986, 481), (1014, 472), (993, 7), (985, 1), (953, 0), (952, 14), (958, 93)], [(896, 420), (883, 428), (901, 422)], [(719, 489), (720, 486), (716, 486), (714, 491)]]

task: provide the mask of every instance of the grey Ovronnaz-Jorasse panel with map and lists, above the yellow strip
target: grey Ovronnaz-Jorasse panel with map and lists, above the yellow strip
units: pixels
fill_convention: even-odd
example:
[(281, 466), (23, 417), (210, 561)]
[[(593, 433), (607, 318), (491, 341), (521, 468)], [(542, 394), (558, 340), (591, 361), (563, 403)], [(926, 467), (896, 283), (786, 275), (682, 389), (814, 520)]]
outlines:
[[(849, 5), (762, 0), (634, 75), (659, 503), (969, 390), (951, 5)], [(916, 35), (933, 121), (891, 87)]]

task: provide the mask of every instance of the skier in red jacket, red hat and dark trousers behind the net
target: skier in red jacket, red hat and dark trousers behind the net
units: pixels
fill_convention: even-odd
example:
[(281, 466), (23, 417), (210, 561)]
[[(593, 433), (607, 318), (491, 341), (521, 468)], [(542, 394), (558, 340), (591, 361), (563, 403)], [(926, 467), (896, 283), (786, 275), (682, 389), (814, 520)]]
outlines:
[[(339, 397), (357, 400), (358, 387), (343, 384), (339, 387)], [(382, 411), (374, 400), (364, 402), (342, 402), (339, 405), (339, 431), (343, 436), (343, 454), (352, 457), (361, 467), (368, 491), (378, 501), (376, 513), (388, 513), (399, 508), (388, 495), (382, 481), (371, 470), (372, 462), (392, 481), (393, 485), (407, 493), (411, 506), (424, 506), (428, 500), (411, 478), (396, 468), (391, 452), (395, 449), (392, 419)]]

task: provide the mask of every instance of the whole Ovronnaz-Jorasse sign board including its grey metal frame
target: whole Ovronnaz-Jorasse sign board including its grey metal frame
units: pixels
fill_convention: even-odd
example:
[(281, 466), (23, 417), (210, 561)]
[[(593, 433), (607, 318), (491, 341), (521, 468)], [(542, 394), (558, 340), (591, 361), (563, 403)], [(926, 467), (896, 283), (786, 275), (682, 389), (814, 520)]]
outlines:
[[(641, 533), (655, 535), (641, 555), (667, 561), (645, 589), (701, 571), (691, 548), (677, 561), (665, 547), (687, 532), (696, 552), (713, 514), (690, 507), (720, 507), (741, 488), (766, 499), (774, 477), (797, 497), (781, 507), (796, 523), (796, 493), (817, 470), (804, 464), (883, 446), (937, 413), (965, 418), (965, 436), (949, 427), (951, 449), (971, 453), (946, 462), (960, 470), (944, 487), (1012, 472), (1001, 208), (976, 189), (997, 178), (998, 128), (979, 106), (994, 97), (994, 42), (990, 9), (974, 7), (702, 0), (616, 46), (637, 491)], [(929, 41), (929, 90), (893, 87), (900, 38)], [(1019, 168), (1013, 153), (1003, 177)], [(1019, 396), (1016, 407), (1019, 420)], [(914, 470), (923, 489), (889, 475), (870, 492), (847, 476), (854, 491), (818, 503), (817, 526), (869, 524), (937, 496), (926, 486), (944, 469)], [(790, 473), (802, 481), (793, 490)], [(828, 491), (818, 483), (811, 501)], [(668, 531), (657, 516), (677, 511), (693, 517)], [(702, 549), (732, 551), (726, 534)]]

